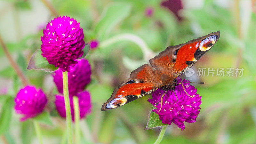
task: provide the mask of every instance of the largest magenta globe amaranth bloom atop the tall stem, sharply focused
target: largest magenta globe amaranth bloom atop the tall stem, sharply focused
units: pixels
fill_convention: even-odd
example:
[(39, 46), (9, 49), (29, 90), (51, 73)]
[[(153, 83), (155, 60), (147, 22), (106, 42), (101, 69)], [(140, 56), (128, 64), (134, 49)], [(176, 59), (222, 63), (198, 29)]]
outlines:
[(79, 22), (68, 16), (55, 18), (47, 24), (43, 33), (42, 56), (49, 64), (69, 71), (69, 66), (74, 66), (77, 63), (75, 60), (84, 53), (84, 33)]

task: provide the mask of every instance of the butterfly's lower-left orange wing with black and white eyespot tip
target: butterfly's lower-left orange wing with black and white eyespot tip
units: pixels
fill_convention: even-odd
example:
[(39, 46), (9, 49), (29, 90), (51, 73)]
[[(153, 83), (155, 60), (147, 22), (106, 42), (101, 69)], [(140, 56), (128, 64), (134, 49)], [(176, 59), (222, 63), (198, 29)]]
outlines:
[(101, 110), (120, 107), (132, 100), (150, 94), (162, 86), (156, 83), (153, 69), (147, 64), (134, 70), (130, 77), (114, 90), (108, 101), (102, 105)]

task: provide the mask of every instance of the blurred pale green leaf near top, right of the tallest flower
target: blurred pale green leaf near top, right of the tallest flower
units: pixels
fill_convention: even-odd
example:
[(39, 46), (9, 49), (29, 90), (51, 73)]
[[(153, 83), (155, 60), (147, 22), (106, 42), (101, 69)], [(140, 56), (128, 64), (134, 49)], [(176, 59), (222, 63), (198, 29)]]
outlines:
[(99, 22), (95, 25), (95, 34), (98, 34), (99, 40), (115, 28), (115, 26), (129, 16), (132, 7), (127, 3), (115, 3), (108, 5), (101, 13)]

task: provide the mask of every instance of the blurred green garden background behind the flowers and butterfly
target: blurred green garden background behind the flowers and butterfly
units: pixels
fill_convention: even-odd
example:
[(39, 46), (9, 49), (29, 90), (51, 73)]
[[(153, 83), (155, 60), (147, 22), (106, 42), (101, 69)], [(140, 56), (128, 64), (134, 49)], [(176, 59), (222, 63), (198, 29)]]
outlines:
[[(219, 41), (192, 68), (244, 68), (243, 76), (187, 78), (206, 83), (193, 84), (202, 96), (197, 122), (186, 123), (184, 131), (168, 126), (162, 143), (256, 143), (255, 0), (1, 0), (0, 35), (31, 84), (47, 94), (52, 122), (43, 120), (41, 128), (49, 144), (65, 143), (65, 120), (53, 104), (57, 90), (50, 73), (26, 68), (43, 28), (57, 15), (80, 22), (86, 43), (99, 41), (86, 56), (93, 109), (81, 120), (83, 143), (153, 143), (160, 129), (144, 130), (150, 95), (110, 111), (100, 111), (101, 105), (132, 70), (167, 46), (219, 30)], [(31, 121), (21, 123), (14, 112), (22, 84), (2, 47), (0, 61), (0, 143), (38, 143)]]

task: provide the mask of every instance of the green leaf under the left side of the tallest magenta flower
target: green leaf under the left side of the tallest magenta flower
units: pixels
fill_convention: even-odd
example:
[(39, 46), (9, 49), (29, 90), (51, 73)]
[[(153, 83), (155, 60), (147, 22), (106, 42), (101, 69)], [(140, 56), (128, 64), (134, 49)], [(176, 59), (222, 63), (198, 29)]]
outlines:
[(27, 69), (43, 70), (45, 72), (52, 72), (57, 70), (54, 65), (48, 63), (46, 58), (41, 55), (42, 51), (37, 50), (30, 58)]

